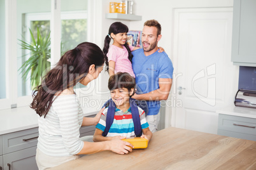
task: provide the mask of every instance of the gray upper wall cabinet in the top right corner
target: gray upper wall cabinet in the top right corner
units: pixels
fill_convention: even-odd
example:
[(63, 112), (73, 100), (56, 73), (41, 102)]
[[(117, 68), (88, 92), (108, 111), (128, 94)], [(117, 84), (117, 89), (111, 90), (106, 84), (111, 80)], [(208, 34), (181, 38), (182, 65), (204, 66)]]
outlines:
[(234, 65), (256, 66), (256, 1), (234, 0), (232, 54)]

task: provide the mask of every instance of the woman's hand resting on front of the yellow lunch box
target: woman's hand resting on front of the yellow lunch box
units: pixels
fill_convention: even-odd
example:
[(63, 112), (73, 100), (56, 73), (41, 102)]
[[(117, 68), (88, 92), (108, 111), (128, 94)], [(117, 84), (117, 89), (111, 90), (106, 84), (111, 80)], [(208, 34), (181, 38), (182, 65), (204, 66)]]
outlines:
[(115, 152), (117, 154), (128, 154), (129, 152), (132, 152), (132, 146), (131, 143), (128, 141), (122, 141), (122, 140), (111, 140), (110, 142), (110, 150), (112, 152)]

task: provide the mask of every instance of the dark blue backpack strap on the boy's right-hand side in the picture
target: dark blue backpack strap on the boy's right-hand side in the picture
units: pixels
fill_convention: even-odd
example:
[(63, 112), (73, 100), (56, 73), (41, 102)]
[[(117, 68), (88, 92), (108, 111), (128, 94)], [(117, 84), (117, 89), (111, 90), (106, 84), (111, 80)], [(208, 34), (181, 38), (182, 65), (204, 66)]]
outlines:
[(132, 112), (132, 121), (134, 124), (134, 133), (137, 137), (140, 137), (142, 134), (141, 120), (139, 119), (139, 109), (134, 98), (130, 98), (130, 106)]

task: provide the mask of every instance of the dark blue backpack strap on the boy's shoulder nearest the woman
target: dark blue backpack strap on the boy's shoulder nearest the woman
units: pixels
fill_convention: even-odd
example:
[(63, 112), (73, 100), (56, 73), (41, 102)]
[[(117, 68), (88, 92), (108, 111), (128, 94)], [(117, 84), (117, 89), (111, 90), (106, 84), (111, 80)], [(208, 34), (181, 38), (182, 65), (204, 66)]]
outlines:
[(106, 115), (106, 128), (103, 132), (103, 136), (106, 136), (108, 134), (108, 131), (110, 131), (110, 127), (113, 124), (115, 116), (115, 102), (113, 100), (108, 100), (108, 112)]

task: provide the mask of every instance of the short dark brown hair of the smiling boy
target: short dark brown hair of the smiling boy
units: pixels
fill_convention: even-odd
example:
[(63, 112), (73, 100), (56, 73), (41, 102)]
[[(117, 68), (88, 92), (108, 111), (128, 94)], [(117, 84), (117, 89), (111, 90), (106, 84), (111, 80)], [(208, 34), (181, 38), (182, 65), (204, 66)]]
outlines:
[[(111, 75), (108, 79), (108, 89), (120, 89), (127, 88), (128, 91), (131, 91), (132, 88), (135, 88), (135, 79), (127, 72), (117, 72), (117, 74)], [(130, 94), (131, 96), (134, 94)]]

